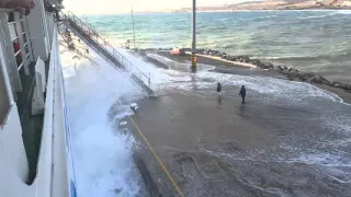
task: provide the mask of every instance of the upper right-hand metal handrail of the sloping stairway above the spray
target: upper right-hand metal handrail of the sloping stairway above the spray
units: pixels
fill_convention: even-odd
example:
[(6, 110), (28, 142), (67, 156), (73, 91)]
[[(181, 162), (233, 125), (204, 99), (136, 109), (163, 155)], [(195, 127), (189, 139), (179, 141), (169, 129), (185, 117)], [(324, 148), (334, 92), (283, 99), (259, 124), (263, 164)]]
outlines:
[(101, 37), (94, 30), (88, 26), (83, 21), (81, 21), (73, 13), (68, 12), (67, 15), (65, 13), (63, 14), (65, 18), (73, 22), (77, 27), (80, 27), (81, 31), (84, 33), (84, 35), (87, 35), (86, 33), (88, 32), (88, 36), (94, 42), (97, 42), (97, 44), (99, 44), (102, 48), (104, 48), (112, 57), (114, 57), (121, 65), (123, 65), (125, 69), (131, 70), (132, 72), (134, 71), (134, 69), (136, 69), (136, 71), (138, 72), (137, 77), (139, 78), (139, 80), (143, 81), (141, 77), (146, 78), (148, 85), (150, 86), (151, 84), (150, 73), (146, 74), (145, 72), (143, 72), (137, 66), (135, 66), (132, 61), (129, 61), (121, 53), (118, 53), (118, 50), (116, 50), (110, 43), (107, 43), (105, 38)]

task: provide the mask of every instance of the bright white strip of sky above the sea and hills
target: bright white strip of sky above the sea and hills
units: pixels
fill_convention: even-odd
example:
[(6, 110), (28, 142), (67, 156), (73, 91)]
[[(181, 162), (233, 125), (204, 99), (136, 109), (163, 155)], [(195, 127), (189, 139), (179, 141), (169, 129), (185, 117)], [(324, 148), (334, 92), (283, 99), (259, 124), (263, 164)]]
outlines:
[[(239, 3), (250, 0), (197, 0), (197, 5), (218, 5)], [(136, 12), (174, 10), (192, 7), (192, 0), (64, 0), (66, 10), (76, 14), (112, 14), (131, 11), (131, 5)]]

